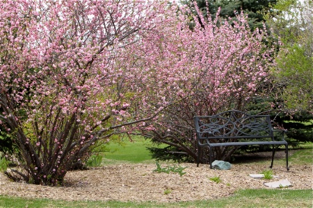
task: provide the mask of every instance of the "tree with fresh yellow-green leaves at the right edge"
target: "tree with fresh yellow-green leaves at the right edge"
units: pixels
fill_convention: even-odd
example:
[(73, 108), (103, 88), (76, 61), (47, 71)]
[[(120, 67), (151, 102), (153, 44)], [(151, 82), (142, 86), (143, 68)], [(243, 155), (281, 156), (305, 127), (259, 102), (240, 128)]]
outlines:
[(282, 42), (273, 74), (284, 86), (284, 105), (312, 112), (313, 3), (282, 0), (272, 10), (275, 13), (267, 14), (268, 24)]

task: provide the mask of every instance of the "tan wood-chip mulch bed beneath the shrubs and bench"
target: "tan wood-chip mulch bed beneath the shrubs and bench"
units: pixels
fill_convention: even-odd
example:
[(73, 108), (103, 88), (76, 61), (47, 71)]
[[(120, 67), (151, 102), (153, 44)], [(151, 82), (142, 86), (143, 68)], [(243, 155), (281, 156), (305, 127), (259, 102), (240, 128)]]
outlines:
[[(250, 160), (252, 155), (248, 155)], [(278, 154), (278, 157), (283, 156)], [(223, 198), (239, 189), (270, 189), (264, 186), (264, 182), (284, 179), (293, 185), (287, 189), (312, 189), (312, 165), (290, 164), (290, 171), (287, 171), (285, 166), (275, 165), (274, 161), (273, 173), (278, 178), (257, 180), (249, 174), (267, 170), (271, 159), (268, 159), (268, 153), (255, 157), (265, 158), (266, 163), (245, 162), (241, 158), (227, 171), (212, 170), (208, 165), (180, 164), (186, 167), (186, 174), (182, 176), (154, 172), (157, 168), (155, 164), (115, 164), (86, 171), (70, 171), (63, 187), (10, 182), (1, 174), (0, 194), (59, 200), (178, 202)], [(162, 166), (167, 165), (164, 163)], [(215, 176), (220, 177), (220, 183), (209, 180)], [(170, 193), (164, 193), (166, 190)]]

